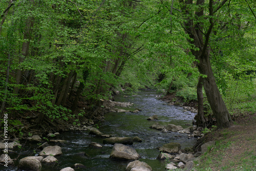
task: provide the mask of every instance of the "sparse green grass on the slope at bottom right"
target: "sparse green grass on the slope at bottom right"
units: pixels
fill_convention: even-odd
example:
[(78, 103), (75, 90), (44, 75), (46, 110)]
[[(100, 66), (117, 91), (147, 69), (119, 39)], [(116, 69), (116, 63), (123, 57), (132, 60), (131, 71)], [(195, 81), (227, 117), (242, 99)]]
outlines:
[[(243, 153), (232, 155), (233, 146), (240, 147), (240, 143), (236, 139), (236, 134), (239, 134), (239, 132), (233, 133), (223, 130), (221, 134), (224, 140), (217, 141), (216, 146), (211, 148), (211, 151), (202, 155), (198, 161), (195, 161), (195, 169), (197, 171), (256, 171), (255, 148), (247, 144), (248, 146)], [(247, 139), (254, 140), (255, 137), (247, 137)]]

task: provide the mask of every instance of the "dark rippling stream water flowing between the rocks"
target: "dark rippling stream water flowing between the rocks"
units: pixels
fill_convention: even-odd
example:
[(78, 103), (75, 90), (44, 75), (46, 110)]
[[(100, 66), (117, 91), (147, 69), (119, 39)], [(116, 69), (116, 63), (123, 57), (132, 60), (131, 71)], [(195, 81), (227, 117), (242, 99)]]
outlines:
[[(173, 105), (164, 105), (165, 102), (158, 100), (159, 94), (154, 90), (141, 90), (137, 95), (124, 98), (122, 95), (115, 96), (116, 101), (132, 102), (131, 108), (138, 108), (142, 111), (139, 113), (108, 113), (105, 115), (105, 121), (98, 123), (98, 129), (104, 134), (110, 134), (116, 137), (135, 137), (138, 136), (142, 142), (135, 142), (132, 147), (142, 157), (140, 161), (146, 162), (154, 171), (165, 170), (165, 161), (157, 160), (159, 150), (157, 147), (169, 142), (179, 142), (181, 148), (191, 147), (196, 143), (195, 138), (188, 139), (187, 134), (180, 133), (163, 133), (149, 127), (155, 122), (161, 124), (176, 124), (183, 128), (185, 124), (191, 124), (195, 113), (184, 111), (182, 107)], [(149, 121), (148, 117), (157, 115), (157, 121)], [(66, 144), (61, 144), (63, 155), (57, 156), (59, 163), (54, 168), (43, 168), (42, 171), (60, 170), (64, 167), (73, 167), (75, 163), (81, 163), (86, 168), (76, 170), (83, 171), (122, 171), (125, 170), (127, 161), (111, 160), (110, 153), (113, 145), (102, 144), (102, 138), (89, 135), (88, 131), (84, 132), (67, 132), (62, 133), (56, 139), (67, 140)], [(102, 148), (96, 149), (89, 147), (91, 142), (102, 144)], [(50, 145), (54, 145), (51, 144)], [(31, 155), (33, 147), (23, 152), (22, 156)], [(86, 156), (79, 153), (85, 152)], [(12, 157), (12, 155), (10, 154)], [(15, 155), (13, 155), (15, 156)], [(22, 170), (16, 167), (0, 166), (0, 170)]]

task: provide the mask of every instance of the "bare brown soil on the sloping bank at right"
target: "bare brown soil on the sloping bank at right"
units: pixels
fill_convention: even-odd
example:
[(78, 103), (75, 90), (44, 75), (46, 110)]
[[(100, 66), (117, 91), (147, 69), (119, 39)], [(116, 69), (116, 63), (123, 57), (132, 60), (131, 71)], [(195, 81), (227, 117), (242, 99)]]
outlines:
[(225, 144), (231, 142), (227, 148), (220, 149), (219, 154), (224, 154), (221, 161), (214, 160), (219, 154), (212, 156), (212, 163), (218, 163), (218, 166), (213, 164), (209, 167), (211, 170), (219, 171), (225, 166), (232, 165), (228, 170), (243, 170), (241, 163), (254, 156), (254, 164), (248, 163), (252, 166), (249, 166), (251, 168), (247, 170), (256, 170), (256, 113), (243, 114), (233, 119), (234, 124), (230, 127), (214, 131), (206, 136), (205, 142), (220, 140)]

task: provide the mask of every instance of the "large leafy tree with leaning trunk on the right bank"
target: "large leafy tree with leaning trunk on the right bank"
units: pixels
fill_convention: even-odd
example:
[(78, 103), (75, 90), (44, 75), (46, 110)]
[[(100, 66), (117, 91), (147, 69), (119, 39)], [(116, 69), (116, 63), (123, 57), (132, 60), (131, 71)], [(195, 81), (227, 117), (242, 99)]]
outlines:
[[(217, 54), (224, 55), (225, 53), (226, 57), (229, 58), (229, 61), (232, 61), (233, 63), (235, 61), (238, 62), (236, 58), (239, 58), (239, 56), (233, 54), (229, 56), (230, 53), (228, 54), (229, 51), (227, 51), (227, 48), (229, 48), (232, 52), (233, 49), (237, 49), (238, 53), (253, 53), (252, 49), (250, 50), (250, 52), (247, 52), (248, 47), (253, 47), (253, 43), (251, 45), (242, 45), (241, 42), (243, 42), (245, 38), (244, 40), (240, 38), (240, 40), (237, 41), (238, 43), (234, 45), (234, 41), (232, 39), (234, 38), (234, 34), (243, 35), (247, 30), (247, 32), (249, 33), (249, 29), (247, 29), (248, 27), (253, 30), (253, 24), (251, 24), (253, 23), (253, 20), (248, 17), (249, 13), (251, 16), (253, 16), (253, 14), (251, 14), (249, 10), (251, 9), (249, 6), (252, 6), (251, 2), (250, 4), (241, 4), (244, 8), (243, 10), (239, 9), (241, 6), (239, 6), (238, 9), (236, 8), (236, 6), (232, 6), (231, 1), (229, 1), (228, 3), (226, 2), (227, 1), (179, 1), (177, 3), (175, 1), (159, 1), (157, 5), (153, 6), (153, 8), (148, 8), (150, 9), (148, 11), (151, 11), (151, 13), (148, 15), (147, 19), (144, 20), (142, 26), (140, 26), (144, 27), (146, 31), (151, 32), (148, 33), (147, 39), (149, 41), (147, 44), (147, 48), (150, 50), (154, 50), (149, 52), (156, 53), (157, 49), (160, 49), (160, 51), (164, 54), (161, 55), (161, 57), (163, 58), (163, 56), (165, 56), (163, 58), (165, 60), (165, 64), (163, 66), (166, 66), (166, 69), (163, 71), (165, 73), (172, 73), (169, 76), (171, 78), (169, 90), (173, 85), (172, 80), (174, 80), (174, 74), (177, 73), (176, 75), (179, 75), (177, 71), (179, 71), (180, 73), (184, 73), (184, 71), (190, 70), (189, 72), (191, 72), (191, 66), (194, 66), (192, 65), (192, 63), (197, 63), (197, 67), (200, 73), (200, 79), (197, 84), (197, 95), (199, 106), (201, 106), (198, 114), (198, 124), (200, 124), (201, 126), (204, 126), (206, 121), (203, 113), (204, 110), (202, 88), (204, 88), (205, 90), (206, 97), (208, 99), (208, 103), (210, 104), (212, 113), (217, 119), (218, 127), (228, 127), (232, 123), (231, 116), (222, 99), (222, 95), (225, 95), (225, 90), (227, 90), (227, 86), (223, 84), (224, 77), (220, 77), (219, 74), (217, 74), (218, 72), (225, 72), (225, 69), (227, 69), (227, 63), (222, 63), (224, 59), (223, 56), (219, 56)], [(247, 12), (245, 12), (245, 9), (247, 9)], [(244, 18), (242, 16), (244, 16)], [(178, 25), (180, 25), (181, 27)], [(237, 26), (238, 28), (236, 28)], [(228, 35), (229, 33), (227, 31), (231, 31), (231, 35)], [(183, 32), (185, 32), (188, 36), (184, 35)], [(161, 36), (161, 40), (157, 39), (159, 36)], [(221, 36), (224, 38), (222, 38)], [(169, 40), (166, 41), (166, 39)], [(183, 39), (183, 42), (179, 41), (179, 39)], [(184, 43), (185, 39), (187, 40), (188, 44)], [(220, 39), (222, 41), (220, 41)], [(232, 46), (230, 46), (231, 44), (228, 45), (225, 40), (230, 42)], [(220, 42), (222, 42), (222, 45)], [(248, 37), (247, 40), (244, 42), (248, 42)], [(226, 47), (223, 46), (223, 44), (225, 44)], [(236, 48), (236, 46), (239, 46), (240, 49)], [(242, 50), (241, 48), (245, 46), (247, 47), (247, 49)], [(169, 50), (166, 51), (166, 49)], [(216, 53), (217, 49), (218, 53)], [(182, 55), (180, 53), (181, 51), (186, 53)], [(195, 58), (196, 61), (190, 61), (190, 66), (180, 66), (180, 63), (185, 63), (190, 60), (188, 57), (189, 54), (192, 54), (194, 56), (194, 61)], [(147, 55), (150, 56), (150, 53), (147, 53)], [(169, 63), (166, 62), (167, 57), (168, 60), (172, 61), (174, 65), (166, 65), (167, 63)], [(181, 60), (179, 61), (177, 60), (177, 58), (181, 58)], [(243, 60), (243, 58), (240, 58), (240, 63), (244, 63), (242, 68), (248, 68), (247, 70), (249, 70), (250, 68), (251, 70), (253, 70), (253, 63), (248, 63), (245, 61), (246, 60)], [(252, 61), (253, 59), (250, 59), (250, 62)], [(215, 69), (216, 67), (218, 67), (218, 70), (215, 70), (215, 72), (212, 71), (212, 63), (214, 63), (213, 67)], [(230, 71), (228, 72), (231, 72), (231, 70), (236, 67), (232, 65), (232, 63), (230, 63)], [(220, 71), (221, 65), (225, 67), (222, 68)], [(232, 72), (234, 73), (240, 70), (239, 73), (245, 73), (245, 71), (241, 71), (240, 68), (241, 67), (237, 67), (237, 69), (233, 70)], [(170, 72), (170, 69), (175, 69), (175, 72)], [(195, 75), (198, 75), (196, 72), (193, 73), (193, 77), (195, 77)], [(218, 78), (217, 80), (216, 76)], [(175, 77), (177, 79), (179, 76)], [(246, 77), (244, 77), (244, 79), (246, 79)], [(251, 84), (252, 81), (250, 81), (248, 85)], [(229, 87), (231, 87), (231, 85)], [(222, 95), (219, 90), (221, 90)]]

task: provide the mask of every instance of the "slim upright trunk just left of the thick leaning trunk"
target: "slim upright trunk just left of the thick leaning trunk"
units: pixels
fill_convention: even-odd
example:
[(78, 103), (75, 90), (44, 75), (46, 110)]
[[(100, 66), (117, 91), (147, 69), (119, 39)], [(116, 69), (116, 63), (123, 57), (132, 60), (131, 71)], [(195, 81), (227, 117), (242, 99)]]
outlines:
[(204, 96), (203, 96), (203, 78), (199, 77), (197, 84), (197, 100), (198, 100), (198, 113), (196, 116), (196, 125), (205, 127), (205, 117), (204, 117)]

